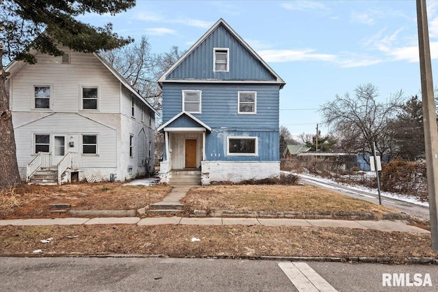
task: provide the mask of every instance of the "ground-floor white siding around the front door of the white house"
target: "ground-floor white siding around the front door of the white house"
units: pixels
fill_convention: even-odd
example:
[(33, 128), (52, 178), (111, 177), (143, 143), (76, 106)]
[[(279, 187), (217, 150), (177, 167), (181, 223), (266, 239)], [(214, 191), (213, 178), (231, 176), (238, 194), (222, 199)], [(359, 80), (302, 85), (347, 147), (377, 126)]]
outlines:
[[(117, 166), (116, 130), (79, 114), (51, 114), (14, 129), (18, 166), (34, 158), (34, 134), (98, 135), (98, 155), (81, 155), (83, 168), (115, 168)], [(68, 142), (68, 137), (66, 137)], [(79, 142), (81, 149), (81, 141)], [(68, 148), (66, 149), (68, 151)], [(81, 152), (81, 150), (79, 150)]]

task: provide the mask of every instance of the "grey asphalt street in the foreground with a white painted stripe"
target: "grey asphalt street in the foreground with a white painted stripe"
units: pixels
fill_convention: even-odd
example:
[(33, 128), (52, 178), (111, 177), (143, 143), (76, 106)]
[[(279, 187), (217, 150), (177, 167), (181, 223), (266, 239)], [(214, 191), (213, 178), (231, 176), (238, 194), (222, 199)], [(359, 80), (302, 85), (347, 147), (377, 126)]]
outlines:
[[(438, 286), (436, 265), (118, 256), (1, 257), (0, 263), (0, 291), (437, 291)], [(384, 287), (383, 274), (394, 273), (403, 279), (409, 274), (409, 280)], [(430, 282), (415, 282), (415, 274)]]

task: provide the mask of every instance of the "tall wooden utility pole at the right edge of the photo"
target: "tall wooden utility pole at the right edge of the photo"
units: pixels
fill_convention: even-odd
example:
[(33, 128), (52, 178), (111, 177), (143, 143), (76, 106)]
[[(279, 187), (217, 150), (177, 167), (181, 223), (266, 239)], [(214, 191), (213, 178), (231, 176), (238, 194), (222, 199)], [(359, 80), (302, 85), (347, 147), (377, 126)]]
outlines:
[(426, 0), (417, 0), (418, 47), (422, 79), (424, 144), (426, 146), (426, 172), (428, 183), (430, 235), (432, 249), (438, 250), (438, 131), (437, 113), (433, 96), (432, 64), (430, 62), (429, 31)]

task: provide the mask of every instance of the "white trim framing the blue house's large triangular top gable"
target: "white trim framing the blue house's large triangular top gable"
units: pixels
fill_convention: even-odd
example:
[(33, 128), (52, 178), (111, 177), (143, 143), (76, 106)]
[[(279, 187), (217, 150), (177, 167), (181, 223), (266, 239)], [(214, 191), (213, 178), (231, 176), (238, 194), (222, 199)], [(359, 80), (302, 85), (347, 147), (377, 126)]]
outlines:
[[(186, 51), (178, 60), (177, 62), (175, 62), (175, 64), (173, 64), (170, 68), (168, 68), (168, 70), (166, 70), (166, 72), (164, 72), (164, 74), (159, 77), (158, 82), (160, 85), (162, 85), (163, 82), (193, 82), (193, 79), (170, 79), (168, 78), (169, 75), (178, 67), (181, 65), (181, 63), (183, 63), (185, 61), (185, 59), (188, 59), (188, 56), (191, 55), (198, 47), (200, 47), (201, 44), (203, 44), (203, 42), (205, 42), (205, 40), (207, 40), (207, 38), (209, 38), (209, 36), (211, 36), (211, 34), (214, 33), (214, 31), (216, 31), (218, 29), (218, 27), (223, 26), (228, 32), (229, 34), (231, 34), (231, 36), (233, 36), (233, 38), (235, 38), (235, 40), (237, 40), (237, 42), (239, 42), (242, 47), (244, 47), (244, 49), (246, 49), (246, 51), (248, 51), (248, 53), (250, 55), (252, 55), (252, 57), (254, 57), (255, 59), (257, 59), (260, 63), (261, 66), (263, 66), (269, 73), (270, 75), (272, 75), (272, 77), (274, 77), (273, 80), (268, 80), (268, 81), (257, 81), (257, 83), (261, 82), (261, 83), (278, 83), (280, 84), (280, 88), (283, 88), (283, 86), (285, 85), (285, 81), (283, 81), (283, 79), (281, 79), (281, 77), (279, 77), (279, 75), (276, 74), (276, 72), (274, 72), (274, 70), (272, 70), (272, 68), (270, 68), (270, 66), (263, 60), (261, 59), (261, 57), (244, 41), (243, 38), (241, 38), (229, 25), (228, 23), (226, 23), (222, 18), (220, 18), (197, 42), (195, 42), (192, 47), (190, 47), (190, 49), (188, 49), (188, 51)], [(229, 80), (229, 81), (224, 81), (224, 80), (211, 80), (211, 79), (195, 79), (196, 82), (220, 82), (220, 83), (227, 83), (227, 82), (231, 82), (231, 83), (235, 83), (236, 80)], [(255, 80), (252, 80), (250, 82), (254, 82)], [(245, 81), (242, 81), (245, 82)], [(248, 82), (248, 81), (247, 81)]]

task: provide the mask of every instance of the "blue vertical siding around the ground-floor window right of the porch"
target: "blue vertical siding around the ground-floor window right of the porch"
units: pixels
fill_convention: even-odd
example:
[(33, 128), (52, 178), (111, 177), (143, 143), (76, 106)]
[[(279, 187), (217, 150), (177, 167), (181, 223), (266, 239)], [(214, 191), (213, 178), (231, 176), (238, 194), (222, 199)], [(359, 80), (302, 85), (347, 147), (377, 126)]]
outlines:
[[(257, 156), (227, 155), (228, 137), (257, 137)], [(213, 130), (205, 140), (206, 161), (279, 161), (279, 131)]]

